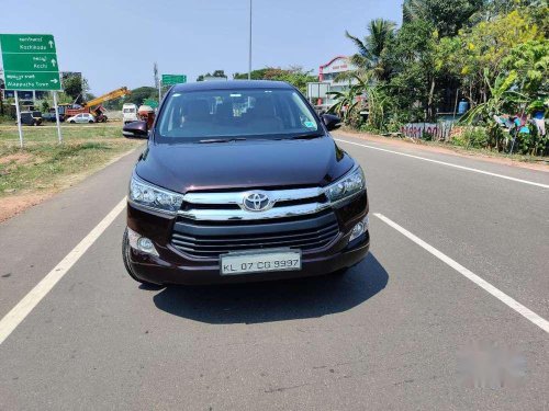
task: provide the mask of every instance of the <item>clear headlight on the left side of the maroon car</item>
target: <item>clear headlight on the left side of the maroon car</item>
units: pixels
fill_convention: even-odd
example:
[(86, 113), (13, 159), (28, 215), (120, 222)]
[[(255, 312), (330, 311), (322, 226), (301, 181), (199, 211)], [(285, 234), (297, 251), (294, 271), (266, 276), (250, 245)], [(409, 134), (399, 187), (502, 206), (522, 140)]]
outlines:
[(157, 187), (132, 175), (130, 183), (130, 201), (137, 205), (154, 208), (159, 212), (177, 213), (183, 202), (183, 195)]

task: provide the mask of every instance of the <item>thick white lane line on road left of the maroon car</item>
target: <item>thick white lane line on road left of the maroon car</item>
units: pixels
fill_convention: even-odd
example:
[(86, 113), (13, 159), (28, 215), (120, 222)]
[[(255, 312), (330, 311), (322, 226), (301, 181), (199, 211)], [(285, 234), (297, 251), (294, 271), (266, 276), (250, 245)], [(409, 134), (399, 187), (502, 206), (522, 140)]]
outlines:
[(116, 206), (38, 283), (18, 302), (15, 307), (0, 320), (0, 345), (29, 316), (47, 293), (63, 278), (72, 265), (96, 242), (103, 231), (111, 225), (119, 214), (125, 208), (126, 198)]

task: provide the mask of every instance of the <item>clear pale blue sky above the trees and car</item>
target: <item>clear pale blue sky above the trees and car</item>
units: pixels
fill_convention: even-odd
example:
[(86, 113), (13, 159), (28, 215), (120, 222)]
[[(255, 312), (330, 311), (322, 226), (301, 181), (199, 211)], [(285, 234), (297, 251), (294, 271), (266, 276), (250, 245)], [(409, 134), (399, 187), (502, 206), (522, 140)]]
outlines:
[[(55, 4), (59, 4), (56, 7)], [(402, 20), (402, 0), (253, 0), (253, 69), (318, 66), (355, 47), (372, 19)], [(0, 33), (53, 34), (61, 71), (96, 95), (154, 85), (160, 73), (248, 70), (249, 0), (0, 0)]]

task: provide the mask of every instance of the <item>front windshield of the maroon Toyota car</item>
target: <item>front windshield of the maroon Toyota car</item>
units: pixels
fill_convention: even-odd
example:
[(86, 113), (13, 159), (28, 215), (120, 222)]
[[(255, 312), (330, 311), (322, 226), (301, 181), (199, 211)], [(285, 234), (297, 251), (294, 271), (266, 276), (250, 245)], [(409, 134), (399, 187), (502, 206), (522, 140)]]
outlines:
[(160, 142), (182, 142), (315, 136), (322, 128), (295, 90), (232, 89), (172, 92), (156, 132)]

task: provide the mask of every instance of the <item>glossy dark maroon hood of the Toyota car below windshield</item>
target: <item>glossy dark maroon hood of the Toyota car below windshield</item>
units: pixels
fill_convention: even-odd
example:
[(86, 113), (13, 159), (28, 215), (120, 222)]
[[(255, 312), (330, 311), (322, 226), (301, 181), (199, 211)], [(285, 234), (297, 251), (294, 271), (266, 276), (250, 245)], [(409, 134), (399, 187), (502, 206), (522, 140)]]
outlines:
[(325, 186), (354, 165), (330, 137), (221, 144), (149, 141), (135, 172), (178, 192)]

